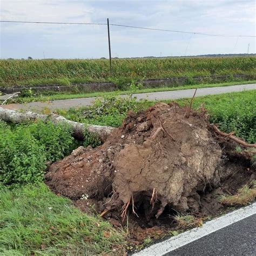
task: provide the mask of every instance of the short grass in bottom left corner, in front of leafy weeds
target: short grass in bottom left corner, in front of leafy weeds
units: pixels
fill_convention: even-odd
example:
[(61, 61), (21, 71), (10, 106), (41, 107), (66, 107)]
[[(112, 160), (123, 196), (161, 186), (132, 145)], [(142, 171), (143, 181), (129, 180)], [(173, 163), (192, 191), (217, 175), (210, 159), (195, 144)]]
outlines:
[(122, 254), (122, 231), (80, 212), (44, 184), (0, 187), (0, 198), (1, 255)]

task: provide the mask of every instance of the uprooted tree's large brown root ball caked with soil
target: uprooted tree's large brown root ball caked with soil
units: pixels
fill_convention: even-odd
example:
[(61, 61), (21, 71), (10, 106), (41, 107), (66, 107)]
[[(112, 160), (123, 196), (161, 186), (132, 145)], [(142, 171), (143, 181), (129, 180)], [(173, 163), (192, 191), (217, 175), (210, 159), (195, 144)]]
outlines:
[(46, 183), (80, 207), (93, 203), (101, 215), (123, 220), (129, 212), (157, 219), (166, 208), (199, 212), (206, 190), (248, 167), (227, 156), (231, 143), (215, 132), (204, 110), (158, 103), (130, 111), (102, 146), (79, 147), (52, 164)]

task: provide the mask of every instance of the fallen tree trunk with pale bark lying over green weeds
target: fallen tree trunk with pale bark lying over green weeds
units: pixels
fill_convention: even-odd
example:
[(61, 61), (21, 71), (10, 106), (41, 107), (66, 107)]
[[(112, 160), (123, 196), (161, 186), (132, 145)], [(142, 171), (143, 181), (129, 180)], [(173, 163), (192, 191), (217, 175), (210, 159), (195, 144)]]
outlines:
[(29, 121), (42, 120), (43, 122), (51, 121), (54, 124), (65, 123), (72, 127), (73, 137), (79, 140), (84, 139), (84, 131), (87, 129), (89, 132), (98, 134), (102, 142), (105, 142), (106, 138), (116, 130), (114, 127), (110, 126), (100, 126), (100, 125), (86, 125), (83, 123), (73, 122), (66, 119), (63, 116), (58, 116), (58, 114), (38, 114), (35, 112), (18, 112), (15, 110), (4, 109), (0, 107), (0, 120), (5, 122), (11, 122), (14, 124), (25, 123)]

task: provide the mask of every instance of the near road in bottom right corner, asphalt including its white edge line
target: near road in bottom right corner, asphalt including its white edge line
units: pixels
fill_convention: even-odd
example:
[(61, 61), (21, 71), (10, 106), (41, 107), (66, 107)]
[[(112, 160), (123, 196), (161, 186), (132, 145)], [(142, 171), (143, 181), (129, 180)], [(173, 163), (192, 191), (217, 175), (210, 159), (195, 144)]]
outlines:
[(256, 255), (256, 203), (133, 254), (161, 255)]

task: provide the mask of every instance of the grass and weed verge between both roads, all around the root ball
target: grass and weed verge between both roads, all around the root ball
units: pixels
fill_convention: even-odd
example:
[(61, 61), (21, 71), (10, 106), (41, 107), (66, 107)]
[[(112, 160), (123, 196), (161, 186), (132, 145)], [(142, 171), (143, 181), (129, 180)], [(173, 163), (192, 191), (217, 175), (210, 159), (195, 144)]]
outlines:
[[(195, 98), (193, 107), (204, 103), (211, 121), (218, 123), (221, 130), (235, 130), (238, 136), (255, 142), (255, 98), (256, 90), (206, 96)], [(185, 105), (189, 100), (177, 102)], [(130, 109), (138, 112), (155, 103), (108, 96), (96, 100), (93, 106), (60, 113), (79, 122), (119, 126)], [(39, 182), (45, 161), (62, 158), (73, 143), (68, 127), (50, 123), (10, 127), (0, 123), (1, 255), (123, 255), (126, 244), (122, 230), (114, 230), (97, 215), (80, 212), (70, 200), (56, 196)], [(23, 185), (35, 181), (34, 185)], [(10, 183), (15, 185), (3, 186)], [(242, 205), (254, 199), (252, 184), (242, 187), (235, 196), (222, 198), (222, 203)], [(202, 220), (185, 215), (177, 216), (176, 221), (179, 228), (185, 229), (200, 226)], [(150, 241), (145, 240), (145, 245)]]

